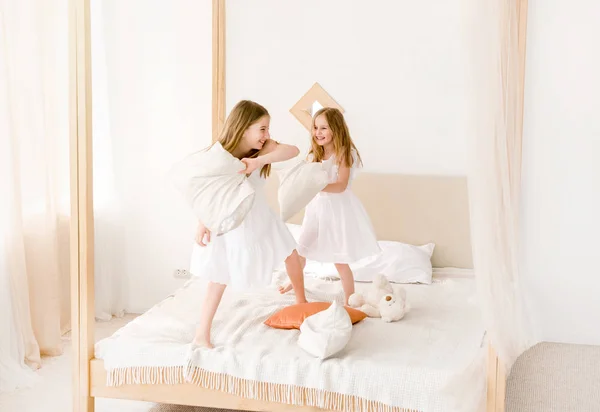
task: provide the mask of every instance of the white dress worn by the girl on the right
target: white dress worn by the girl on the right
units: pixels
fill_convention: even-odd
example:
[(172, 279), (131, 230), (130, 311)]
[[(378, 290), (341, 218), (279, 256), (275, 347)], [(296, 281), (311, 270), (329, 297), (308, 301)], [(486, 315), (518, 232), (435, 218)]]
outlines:
[[(333, 162), (330, 182), (338, 179), (338, 166)], [(371, 219), (361, 201), (352, 192), (357, 161), (350, 169), (348, 187), (342, 193), (320, 192), (306, 206), (298, 239), (298, 253), (323, 263), (354, 263), (381, 253)]]

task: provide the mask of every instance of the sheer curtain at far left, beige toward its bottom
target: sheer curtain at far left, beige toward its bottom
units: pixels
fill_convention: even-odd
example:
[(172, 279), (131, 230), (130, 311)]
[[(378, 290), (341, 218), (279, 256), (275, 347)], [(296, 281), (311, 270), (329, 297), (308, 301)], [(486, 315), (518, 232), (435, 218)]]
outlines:
[[(0, 385), (69, 328), (67, 0), (0, 0)], [(66, 270), (65, 270), (66, 268)]]

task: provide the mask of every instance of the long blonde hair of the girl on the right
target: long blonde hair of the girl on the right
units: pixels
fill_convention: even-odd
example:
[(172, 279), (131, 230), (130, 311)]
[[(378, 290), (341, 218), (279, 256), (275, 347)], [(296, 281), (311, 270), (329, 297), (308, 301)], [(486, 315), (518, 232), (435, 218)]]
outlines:
[(322, 162), (325, 156), (325, 149), (323, 146), (319, 146), (315, 140), (315, 120), (320, 115), (325, 116), (325, 119), (327, 119), (329, 130), (331, 130), (331, 134), (333, 135), (333, 149), (338, 165), (341, 165), (343, 162), (347, 167), (352, 167), (354, 164), (352, 151), (356, 153), (358, 164), (362, 165), (362, 159), (350, 137), (350, 131), (348, 130), (344, 115), (334, 107), (324, 107), (318, 110), (313, 116), (310, 132), (310, 150), (308, 152), (309, 158), (312, 155), (313, 162)]

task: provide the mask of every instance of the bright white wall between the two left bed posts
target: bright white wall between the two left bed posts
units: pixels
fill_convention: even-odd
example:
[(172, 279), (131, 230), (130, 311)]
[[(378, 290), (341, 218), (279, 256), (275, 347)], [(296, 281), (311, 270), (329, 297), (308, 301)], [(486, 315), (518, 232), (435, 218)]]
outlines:
[[(102, 263), (114, 266), (111, 287), (120, 289), (125, 309), (142, 312), (182, 283), (175, 269), (189, 267), (195, 220), (165, 173), (211, 141), (211, 2), (103, 5), (110, 112), (95, 131), (109, 134), (112, 147), (94, 171), (108, 176), (113, 168), (117, 227), (98, 229), (114, 230), (119, 243), (114, 259), (105, 254)], [(106, 190), (98, 186), (95, 194)], [(105, 252), (96, 246), (97, 256)]]

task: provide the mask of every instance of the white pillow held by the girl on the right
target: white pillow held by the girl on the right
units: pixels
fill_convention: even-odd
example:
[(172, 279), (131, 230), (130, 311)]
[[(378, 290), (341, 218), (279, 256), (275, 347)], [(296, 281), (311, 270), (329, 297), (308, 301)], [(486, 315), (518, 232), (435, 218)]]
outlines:
[(308, 205), (327, 186), (331, 165), (300, 161), (279, 174), (279, 210), (285, 222)]

